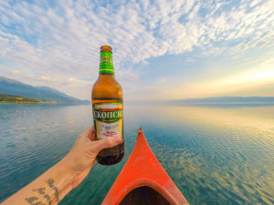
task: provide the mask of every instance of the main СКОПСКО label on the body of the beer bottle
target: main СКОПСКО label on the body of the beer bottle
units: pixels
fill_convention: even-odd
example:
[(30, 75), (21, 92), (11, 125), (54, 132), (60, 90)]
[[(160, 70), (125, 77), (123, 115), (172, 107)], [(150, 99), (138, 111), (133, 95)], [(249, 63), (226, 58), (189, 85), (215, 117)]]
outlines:
[(121, 102), (94, 103), (93, 120), (97, 139), (122, 136), (123, 109)]

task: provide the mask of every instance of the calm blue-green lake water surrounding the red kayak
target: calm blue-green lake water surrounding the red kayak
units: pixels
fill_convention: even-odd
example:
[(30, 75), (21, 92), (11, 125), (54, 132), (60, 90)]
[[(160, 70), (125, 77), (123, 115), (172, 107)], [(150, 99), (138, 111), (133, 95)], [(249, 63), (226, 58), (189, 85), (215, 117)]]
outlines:
[[(0, 202), (62, 159), (91, 121), (90, 106), (0, 104)], [(100, 204), (141, 125), (190, 204), (274, 204), (274, 107), (128, 104), (125, 158), (96, 164), (60, 204)]]

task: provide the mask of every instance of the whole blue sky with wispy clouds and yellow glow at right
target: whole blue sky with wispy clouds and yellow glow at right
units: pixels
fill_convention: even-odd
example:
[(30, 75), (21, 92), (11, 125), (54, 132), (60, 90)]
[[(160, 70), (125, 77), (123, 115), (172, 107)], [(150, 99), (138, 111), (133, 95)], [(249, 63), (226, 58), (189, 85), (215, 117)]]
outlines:
[(0, 1), (0, 76), (90, 99), (100, 46), (124, 99), (274, 96), (274, 1)]

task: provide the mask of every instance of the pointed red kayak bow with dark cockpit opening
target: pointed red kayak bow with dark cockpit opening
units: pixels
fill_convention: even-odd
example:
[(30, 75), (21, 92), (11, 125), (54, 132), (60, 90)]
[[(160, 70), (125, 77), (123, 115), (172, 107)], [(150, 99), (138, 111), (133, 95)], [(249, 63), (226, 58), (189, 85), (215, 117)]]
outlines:
[(138, 131), (131, 157), (102, 202), (102, 205), (114, 204), (188, 204), (155, 158), (144, 138), (142, 128)]

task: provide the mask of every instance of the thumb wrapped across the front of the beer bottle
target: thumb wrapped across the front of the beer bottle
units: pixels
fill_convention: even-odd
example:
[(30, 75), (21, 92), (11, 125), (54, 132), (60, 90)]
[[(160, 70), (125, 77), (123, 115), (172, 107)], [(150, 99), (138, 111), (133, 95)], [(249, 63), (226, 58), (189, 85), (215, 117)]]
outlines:
[(121, 143), (121, 137), (107, 137), (100, 140), (92, 141), (92, 147), (96, 152), (101, 149), (112, 148)]

